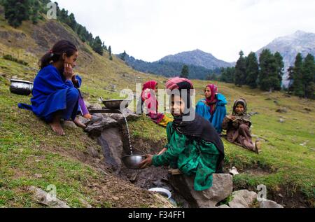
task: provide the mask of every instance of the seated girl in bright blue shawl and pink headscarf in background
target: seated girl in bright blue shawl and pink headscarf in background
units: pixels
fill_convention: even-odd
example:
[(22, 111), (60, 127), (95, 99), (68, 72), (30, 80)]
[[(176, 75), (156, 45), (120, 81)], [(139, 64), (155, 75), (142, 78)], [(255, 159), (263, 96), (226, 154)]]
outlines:
[(218, 134), (221, 134), (223, 119), (226, 116), (225, 105), (228, 102), (224, 95), (218, 93), (218, 87), (214, 84), (207, 85), (204, 96), (205, 98), (197, 103), (196, 113), (208, 120)]

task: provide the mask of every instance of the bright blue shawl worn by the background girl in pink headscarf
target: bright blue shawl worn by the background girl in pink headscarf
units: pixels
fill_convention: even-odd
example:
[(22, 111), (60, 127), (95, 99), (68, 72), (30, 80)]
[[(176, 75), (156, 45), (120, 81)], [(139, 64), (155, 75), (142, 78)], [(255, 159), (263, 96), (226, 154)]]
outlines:
[(225, 96), (220, 93), (217, 95), (217, 99), (218, 102), (216, 103), (216, 111), (214, 112), (214, 115), (211, 115), (210, 107), (202, 102), (206, 101), (206, 99), (201, 99), (200, 102), (197, 103), (196, 113), (208, 120), (216, 128), (216, 131), (221, 133), (223, 119), (226, 116), (225, 105), (228, 104), (228, 102), (225, 99)]

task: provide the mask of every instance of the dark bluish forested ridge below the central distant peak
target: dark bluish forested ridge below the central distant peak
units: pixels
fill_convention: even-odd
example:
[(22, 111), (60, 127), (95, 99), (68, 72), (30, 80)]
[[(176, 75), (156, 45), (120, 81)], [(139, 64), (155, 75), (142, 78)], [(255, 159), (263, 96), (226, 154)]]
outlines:
[[(117, 55), (118, 57), (123, 57), (123, 54)], [(156, 61), (156, 62), (146, 62), (143, 60), (137, 60), (136, 58), (125, 54), (123, 58), (126, 64), (137, 71), (141, 71), (147, 74), (156, 74), (160, 76), (180, 76), (181, 70), (183, 69), (183, 62), (169, 62), (169, 61)], [(220, 68), (207, 69), (205, 67), (197, 66), (194, 64), (188, 64), (189, 68), (189, 78), (192, 79), (206, 79), (210, 74), (219, 74)]]

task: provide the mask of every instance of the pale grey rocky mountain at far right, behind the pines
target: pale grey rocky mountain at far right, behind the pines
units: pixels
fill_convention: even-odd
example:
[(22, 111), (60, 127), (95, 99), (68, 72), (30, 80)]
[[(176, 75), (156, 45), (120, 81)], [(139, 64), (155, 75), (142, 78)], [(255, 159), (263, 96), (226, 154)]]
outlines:
[(315, 34), (297, 31), (294, 34), (279, 37), (258, 50), (256, 54), (259, 56), (265, 48), (269, 48), (272, 53), (277, 51), (281, 53), (285, 70), (283, 85), (288, 86), (288, 68), (294, 65), (297, 53), (301, 53), (303, 57), (306, 57), (308, 53), (315, 55)]

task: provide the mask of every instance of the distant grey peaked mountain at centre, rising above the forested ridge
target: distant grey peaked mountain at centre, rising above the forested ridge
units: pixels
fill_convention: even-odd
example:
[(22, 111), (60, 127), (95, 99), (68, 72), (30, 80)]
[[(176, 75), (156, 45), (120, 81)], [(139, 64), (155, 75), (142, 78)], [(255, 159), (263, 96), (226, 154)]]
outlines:
[(181, 62), (183, 64), (193, 64), (198, 67), (207, 69), (216, 69), (221, 67), (232, 67), (232, 64), (223, 60), (218, 60), (214, 55), (205, 53), (202, 50), (196, 49), (193, 51), (178, 53), (176, 55), (167, 55), (160, 61), (162, 62)]

